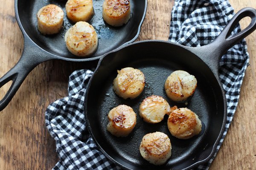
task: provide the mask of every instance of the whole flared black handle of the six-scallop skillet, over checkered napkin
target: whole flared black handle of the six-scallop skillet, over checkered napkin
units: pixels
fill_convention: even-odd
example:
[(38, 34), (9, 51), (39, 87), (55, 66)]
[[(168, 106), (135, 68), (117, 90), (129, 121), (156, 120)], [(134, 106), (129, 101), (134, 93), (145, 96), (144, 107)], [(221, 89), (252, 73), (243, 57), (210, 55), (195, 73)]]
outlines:
[[(251, 22), (247, 28), (240, 31), (235, 35), (231, 35), (231, 32), (235, 28), (239, 21), (244, 17), (250, 17)], [(218, 37), (208, 45), (201, 47), (185, 47), (189, 51), (192, 51), (198, 57), (200, 57), (211, 68), (216, 77), (218, 77), (218, 67), (221, 57), (233, 47), (236, 43), (247, 37), (256, 29), (256, 9), (254, 8), (242, 8), (238, 11), (227, 26), (221, 31)]]

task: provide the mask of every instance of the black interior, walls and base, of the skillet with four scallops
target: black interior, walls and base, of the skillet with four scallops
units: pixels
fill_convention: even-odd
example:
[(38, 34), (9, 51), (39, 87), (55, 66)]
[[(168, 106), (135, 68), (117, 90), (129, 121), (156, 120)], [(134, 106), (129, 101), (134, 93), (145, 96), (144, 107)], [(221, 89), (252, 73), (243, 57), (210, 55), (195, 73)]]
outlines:
[[(102, 19), (103, 2), (104, 0), (93, 0), (95, 14), (89, 23), (95, 28), (98, 34), (99, 46), (97, 51), (90, 56), (90, 58), (99, 58), (103, 54), (125, 43), (136, 40), (140, 33), (140, 26), (145, 17), (147, 0), (130, 0), (131, 19), (124, 26), (112, 27)], [(28, 34), (30, 39), (39, 47), (59, 57), (81, 59), (81, 57), (77, 57), (67, 50), (64, 41), (66, 31), (74, 25), (74, 23), (67, 19), (65, 10), (66, 3), (67, 0), (17, 0), (18, 17), (26, 34)], [(48, 4), (55, 4), (63, 9), (65, 13), (64, 28), (58, 34), (44, 36), (40, 34), (37, 29), (36, 14), (40, 8)]]

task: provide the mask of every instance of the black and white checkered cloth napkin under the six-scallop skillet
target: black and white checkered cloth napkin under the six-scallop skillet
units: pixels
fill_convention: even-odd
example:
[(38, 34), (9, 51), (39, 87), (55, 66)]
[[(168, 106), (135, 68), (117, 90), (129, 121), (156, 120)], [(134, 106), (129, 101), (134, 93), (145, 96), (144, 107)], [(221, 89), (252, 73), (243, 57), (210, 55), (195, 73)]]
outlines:
[[(215, 39), (233, 15), (233, 8), (227, 0), (176, 0), (169, 39), (187, 46), (206, 45)], [(233, 34), (238, 31), (239, 26)], [(245, 40), (228, 50), (221, 59), (219, 73), (227, 97), (227, 124), (215, 155), (236, 111), (248, 62)], [(50, 104), (45, 113), (45, 122), (56, 140), (60, 158), (54, 170), (120, 169), (97, 149), (85, 125), (84, 94), (91, 75), (89, 70), (73, 72), (68, 85), (69, 96)], [(212, 160), (197, 169), (207, 170)]]

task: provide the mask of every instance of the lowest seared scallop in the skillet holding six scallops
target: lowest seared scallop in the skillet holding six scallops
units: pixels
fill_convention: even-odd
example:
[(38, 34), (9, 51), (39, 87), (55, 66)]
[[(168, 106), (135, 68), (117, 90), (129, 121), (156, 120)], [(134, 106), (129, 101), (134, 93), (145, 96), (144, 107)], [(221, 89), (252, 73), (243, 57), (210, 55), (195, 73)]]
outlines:
[(154, 165), (162, 165), (172, 155), (169, 137), (162, 132), (146, 134), (140, 143), (141, 156)]

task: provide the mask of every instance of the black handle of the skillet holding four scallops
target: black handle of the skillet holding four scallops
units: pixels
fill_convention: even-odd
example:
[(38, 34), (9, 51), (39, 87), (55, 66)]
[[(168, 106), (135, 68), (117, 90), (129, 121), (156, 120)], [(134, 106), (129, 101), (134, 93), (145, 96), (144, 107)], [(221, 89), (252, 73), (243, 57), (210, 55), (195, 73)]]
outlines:
[(3, 99), (0, 100), (0, 111), (6, 108), (30, 71), (41, 62), (48, 60), (47, 55), (41, 50), (39, 51), (35, 46), (33, 42), (26, 40), (26, 37), (24, 37), (24, 49), (20, 60), (10, 71), (0, 78), (0, 88), (7, 82), (12, 81), (9, 90)]

